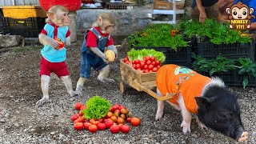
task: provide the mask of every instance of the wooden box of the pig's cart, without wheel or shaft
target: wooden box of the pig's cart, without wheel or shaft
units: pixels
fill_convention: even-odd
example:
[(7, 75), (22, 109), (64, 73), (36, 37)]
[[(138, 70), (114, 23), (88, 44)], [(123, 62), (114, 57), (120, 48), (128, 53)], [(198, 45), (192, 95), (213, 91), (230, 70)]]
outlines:
[(122, 81), (138, 91), (143, 91), (142, 87), (146, 87), (148, 90), (156, 88), (156, 72), (142, 73), (141, 71), (135, 70), (132, 66), (127, 65), (123, 62), (123, 59), (120, 60), (120, 72)]

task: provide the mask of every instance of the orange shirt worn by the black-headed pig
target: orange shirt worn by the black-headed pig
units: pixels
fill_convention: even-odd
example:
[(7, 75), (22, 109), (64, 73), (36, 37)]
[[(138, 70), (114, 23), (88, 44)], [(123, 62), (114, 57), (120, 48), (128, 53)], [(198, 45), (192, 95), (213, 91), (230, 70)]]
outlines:
[(168, 101), (178, 105), (178, 94), (182, 94), (186, 110), (192, 114), (198, 112), (194, 97), (202, 94), (202, 89), (210, 82), (210, 78), (198, 74), (185, 66), (165, 65), (157, 73), (156, 85), (161, 94), (177, 93)]

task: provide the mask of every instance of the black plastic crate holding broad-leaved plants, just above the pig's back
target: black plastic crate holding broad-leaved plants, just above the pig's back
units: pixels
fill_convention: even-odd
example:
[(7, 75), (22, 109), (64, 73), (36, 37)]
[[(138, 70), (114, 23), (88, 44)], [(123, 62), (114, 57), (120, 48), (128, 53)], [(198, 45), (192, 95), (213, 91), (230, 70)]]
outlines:
[[(201, 72), (201, 74), (210, 77), (209, 73)], [(243, 75), (238, 74), (238, 70), (214, 73), (212, 76), (222, 78), (223, 82), (225, 82), (227, 86), (242, 86)], [(254, 78), (253, 76), (249, 76), (247, 86), (256, 86), (256, 78)]]

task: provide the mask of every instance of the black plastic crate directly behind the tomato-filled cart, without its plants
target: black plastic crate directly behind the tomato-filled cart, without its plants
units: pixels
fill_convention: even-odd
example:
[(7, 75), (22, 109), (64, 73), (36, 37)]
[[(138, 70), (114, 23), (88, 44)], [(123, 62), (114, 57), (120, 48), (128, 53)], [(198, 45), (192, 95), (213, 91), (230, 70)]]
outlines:
[(166, 56), (166, 61), (163, 65), (166, 64), (175, 64), (179, 66), (191, 67), (191, 47), (178, 47), (178, 49), (172, 50), (170, 47), (153, 47), (153, 46), (138, 46), (134, 47), (135, 50), (141, 49), (154, 49), (161, 51)]

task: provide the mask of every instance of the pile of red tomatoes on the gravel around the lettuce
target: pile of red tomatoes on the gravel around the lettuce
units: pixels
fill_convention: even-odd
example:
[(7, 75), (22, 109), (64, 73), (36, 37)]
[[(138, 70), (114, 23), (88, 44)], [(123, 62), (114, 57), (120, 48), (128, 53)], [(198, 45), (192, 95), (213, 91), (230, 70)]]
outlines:
[(86, 109), (86, 106), (77, 102), (74, 107), (79, 110), (78, 114), (71, 116), (71, 120), (74, 122), (74, 130), (89, 130), (91, 133), (95, 133), (98, 130), (110, 129), (112, 134), (118, 134), (119, 131), (126, 134), (130, 132), (130, 125), (139, 126), (141, 124), (140, 118), (133, 117), (125, 106), (119, 104), (111, 106), (110, 111), (107, 112), (104, 118), (91, 118), (90, 120), (82, 114), (82, 110)]

